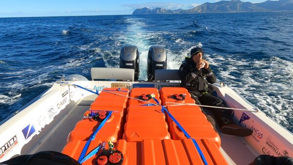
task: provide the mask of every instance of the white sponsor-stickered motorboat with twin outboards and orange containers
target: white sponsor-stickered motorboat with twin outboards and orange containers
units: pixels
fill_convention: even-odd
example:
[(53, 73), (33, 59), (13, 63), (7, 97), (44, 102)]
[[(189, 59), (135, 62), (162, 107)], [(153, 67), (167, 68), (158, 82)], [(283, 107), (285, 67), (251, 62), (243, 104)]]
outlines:
[[(166, 49), (152, 46), (139, 81), (136, 46), (121, 49), (120, 68), (69, 75), (1, 122), (0, 162), (40, 151), (82, 165), (248, 165), (256, 156), (293, 157), (293, 134), (223, 82), (209, 92), (233, 109), (247, 137), (222, 134), (166, 69)], [(209, 107), (203, 107), (209, 114)]]

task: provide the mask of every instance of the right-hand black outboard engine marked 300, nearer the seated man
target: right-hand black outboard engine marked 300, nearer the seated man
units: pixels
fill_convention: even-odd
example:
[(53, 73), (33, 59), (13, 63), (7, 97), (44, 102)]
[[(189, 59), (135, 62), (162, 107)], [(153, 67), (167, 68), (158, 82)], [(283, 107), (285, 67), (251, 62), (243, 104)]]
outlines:
[(156, 69), (167, 68), (167, 53), (163, 46), (151, 46), (147, 55), (147, 81), (150, 82), (155, 78)]

